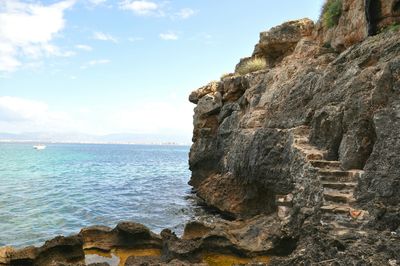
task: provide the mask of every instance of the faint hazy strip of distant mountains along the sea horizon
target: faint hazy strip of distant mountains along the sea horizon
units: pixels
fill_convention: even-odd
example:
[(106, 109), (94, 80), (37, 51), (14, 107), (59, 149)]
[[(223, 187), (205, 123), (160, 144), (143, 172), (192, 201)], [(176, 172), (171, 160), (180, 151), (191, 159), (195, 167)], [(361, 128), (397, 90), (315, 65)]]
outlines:
[(137, 143), (190, 144), (190, 136), (174, 134), (134, 134), (116, 133), (108, 135), (90, 135), (83, 133), (49, 133), (25, 132), (21, 134), (0, 133), (0, 141), (32, 141), (32, 142), (82, 142), (82, 143)]

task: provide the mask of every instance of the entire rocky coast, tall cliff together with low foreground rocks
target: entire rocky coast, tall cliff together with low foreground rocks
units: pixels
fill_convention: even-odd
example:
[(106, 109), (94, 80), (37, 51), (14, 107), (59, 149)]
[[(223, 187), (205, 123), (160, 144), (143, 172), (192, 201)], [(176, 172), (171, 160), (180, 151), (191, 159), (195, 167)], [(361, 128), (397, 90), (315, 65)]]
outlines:
[(342, 0), (334, 27), (262, 32), (236, 68), (265, 69), (192, 92), (190, 184), (229, 220), (94, 226), (0, 265), (399, 265), (398, 23), (397, 0)]

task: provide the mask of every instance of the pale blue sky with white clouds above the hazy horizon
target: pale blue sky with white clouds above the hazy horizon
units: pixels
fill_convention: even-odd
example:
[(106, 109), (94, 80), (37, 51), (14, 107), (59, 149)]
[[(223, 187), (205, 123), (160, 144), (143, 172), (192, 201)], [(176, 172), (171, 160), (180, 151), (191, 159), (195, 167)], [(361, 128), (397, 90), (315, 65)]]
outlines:
[(0, 0), (0, 132), (180, 135), (187, 98), (323, 0)]

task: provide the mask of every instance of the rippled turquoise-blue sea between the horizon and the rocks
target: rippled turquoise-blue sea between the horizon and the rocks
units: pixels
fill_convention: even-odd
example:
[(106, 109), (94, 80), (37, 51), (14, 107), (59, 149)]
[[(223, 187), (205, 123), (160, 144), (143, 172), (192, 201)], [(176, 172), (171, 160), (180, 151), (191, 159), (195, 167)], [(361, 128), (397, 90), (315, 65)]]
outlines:
[(0, 246), (40, 245), (134, 220), (180, 230), (193, 216), (189, 147), (0, 144)]

